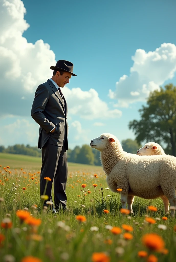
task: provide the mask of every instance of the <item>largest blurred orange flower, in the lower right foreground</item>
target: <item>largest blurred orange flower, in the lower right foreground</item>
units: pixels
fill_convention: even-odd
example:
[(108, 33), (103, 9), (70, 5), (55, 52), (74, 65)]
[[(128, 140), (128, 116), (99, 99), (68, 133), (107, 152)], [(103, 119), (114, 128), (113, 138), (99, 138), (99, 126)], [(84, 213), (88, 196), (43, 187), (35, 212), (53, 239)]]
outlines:
[(164, 240), (161, 236), (155, 233), (148, 233), (142, 237), (142, 243), (149, 249), (161, 252), (164, 249)]

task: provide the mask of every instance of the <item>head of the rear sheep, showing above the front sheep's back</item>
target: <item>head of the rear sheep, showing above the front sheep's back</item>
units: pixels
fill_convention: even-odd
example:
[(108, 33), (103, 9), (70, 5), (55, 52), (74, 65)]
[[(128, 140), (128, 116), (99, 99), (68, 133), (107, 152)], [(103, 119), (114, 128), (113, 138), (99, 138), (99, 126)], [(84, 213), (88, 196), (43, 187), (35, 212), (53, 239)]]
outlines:
[(161, 148), (161, 146), (158, 145), (157, 143), (149, 142), (137, 151), (137, 155), (140, 155), (140, 156), (160, 155), (160, 154), (162, 154), (160, 151), (158, 151), (158, 153), (156, 152), (158, 147)]

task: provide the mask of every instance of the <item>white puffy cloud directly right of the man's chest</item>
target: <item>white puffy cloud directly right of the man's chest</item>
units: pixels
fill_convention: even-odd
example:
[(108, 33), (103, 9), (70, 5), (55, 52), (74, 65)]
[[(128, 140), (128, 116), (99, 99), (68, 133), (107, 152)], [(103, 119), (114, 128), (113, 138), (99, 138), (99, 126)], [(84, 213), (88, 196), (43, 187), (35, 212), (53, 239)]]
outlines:
[(99, 98), (95, 89), (82, 91), (80, 88), (72, 88), (70, 90), (65, 86), (63, 94), (67, 100), (70, 115), (77, 114), (84, 119), (122, 116), (122, 111), (110, 110), (107, 103)]

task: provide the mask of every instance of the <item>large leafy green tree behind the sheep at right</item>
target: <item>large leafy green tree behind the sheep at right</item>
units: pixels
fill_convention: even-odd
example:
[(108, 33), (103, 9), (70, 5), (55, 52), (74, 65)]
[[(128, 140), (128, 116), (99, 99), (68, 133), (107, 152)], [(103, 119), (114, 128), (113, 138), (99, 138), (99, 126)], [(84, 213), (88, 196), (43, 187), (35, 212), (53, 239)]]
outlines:
[(176, 156), (176, 86), (168, 84), (165, 89), (151, 92), (147, 106), (142, 106), (139, 112), (141, 119), (129, 123), (137, 142), (164, 142), (167, 153)]

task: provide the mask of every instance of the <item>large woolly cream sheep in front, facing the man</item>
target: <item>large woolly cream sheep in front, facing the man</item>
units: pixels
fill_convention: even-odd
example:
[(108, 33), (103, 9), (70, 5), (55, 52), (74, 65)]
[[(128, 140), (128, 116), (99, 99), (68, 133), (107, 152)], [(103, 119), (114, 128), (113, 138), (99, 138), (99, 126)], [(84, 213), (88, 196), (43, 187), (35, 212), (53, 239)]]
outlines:
[[(124, 152), (119, 140), (112, 134), (103, 133), (91, 140), (91, 148), (100, 151), (101, 163), (108, 187), (120, 192), (122, 208), (133, 213), (134, 196), (155, 199), (166, 196), (176, 208), (176, 158), (169, 155), (138, 156)], [(174, 217), (172, 209), (170, 216)]]

